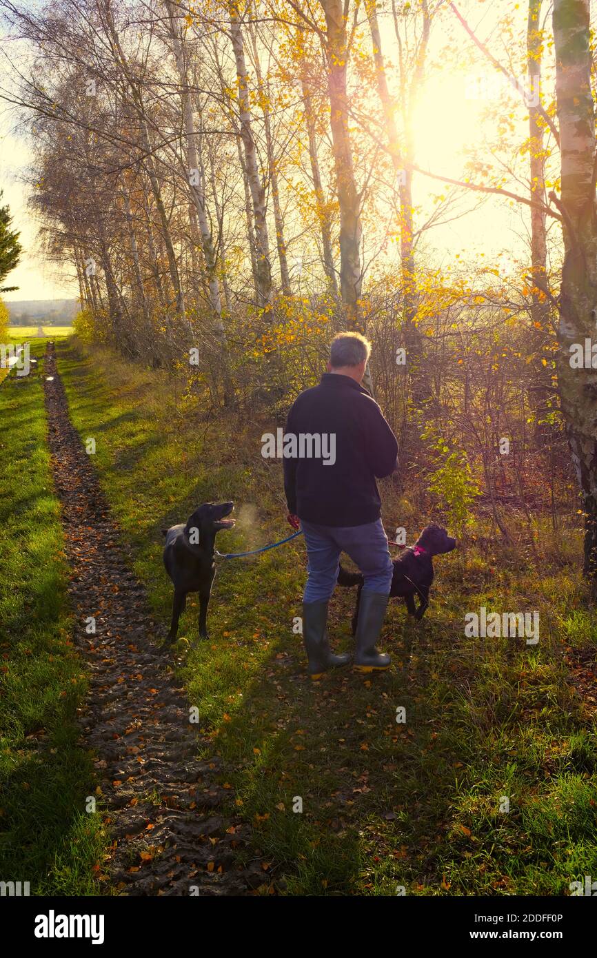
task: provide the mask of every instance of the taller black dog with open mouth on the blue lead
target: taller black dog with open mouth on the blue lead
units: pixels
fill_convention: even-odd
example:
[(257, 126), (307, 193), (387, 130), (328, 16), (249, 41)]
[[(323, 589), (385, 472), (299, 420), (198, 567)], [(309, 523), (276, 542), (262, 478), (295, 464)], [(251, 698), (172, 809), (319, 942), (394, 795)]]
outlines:
[(232, 529), (234, 519), (225, 519), (234, 509), (234, 502), (204, 502), (195, 509), (186, 525), (162, 529), (166, 536), (164, 565), (174, 584), (172, 624), (164, 648), (176, 638), (178, 620), (187, 604), (187, 593), (199, 593), (199, 635), (207, 639), (207, 606), (216, 575), (214, 546), (220, 529)]

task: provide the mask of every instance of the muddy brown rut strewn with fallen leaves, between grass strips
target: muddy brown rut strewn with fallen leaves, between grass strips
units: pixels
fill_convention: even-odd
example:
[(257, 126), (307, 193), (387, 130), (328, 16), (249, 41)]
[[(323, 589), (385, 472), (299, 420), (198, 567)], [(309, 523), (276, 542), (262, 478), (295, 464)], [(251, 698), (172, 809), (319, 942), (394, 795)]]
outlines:
[[(56, 355), (45, 360), (48, 442), (61, 503), (75, 642), (90, 674), (81, 744), (95, 752), (113, 839), (108, 874), (122, 895), (245, 895), (270, 879), (250, 828), (220, 812), (230, 791), (189, 721), (189, 702), (158, 650), (164, 629), (128, 571), (94, 468), (70, 422)], [(87, 635), (84, 620), (96, 618)], [(238, 863), (243, 851), (247, 866)]]

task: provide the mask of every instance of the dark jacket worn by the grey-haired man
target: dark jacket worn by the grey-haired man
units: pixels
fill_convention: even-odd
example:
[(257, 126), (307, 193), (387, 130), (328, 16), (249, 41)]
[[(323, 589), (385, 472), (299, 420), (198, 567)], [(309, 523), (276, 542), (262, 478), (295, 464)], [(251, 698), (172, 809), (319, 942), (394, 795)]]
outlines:
[(350, 376), (324, 373), (296, 399), (285, 433), (335, 433), (335, 463), (284, 459), (288, 512), (325, 526), (379, 519), (378, 479), (396, 468), (398, 443), (378, 403)]

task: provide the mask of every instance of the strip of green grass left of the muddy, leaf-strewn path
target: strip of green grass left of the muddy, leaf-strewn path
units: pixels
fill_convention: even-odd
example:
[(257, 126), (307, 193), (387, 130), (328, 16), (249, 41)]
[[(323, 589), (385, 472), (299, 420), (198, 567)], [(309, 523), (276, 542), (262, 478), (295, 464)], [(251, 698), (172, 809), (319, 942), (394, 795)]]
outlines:
[[(40, 357), (45, 344), (32, 343)], [(0, 385), (0, 879), (31, 894), (97, 894), (103, 861), (76, 710), (67, 568), (39, 373)]]

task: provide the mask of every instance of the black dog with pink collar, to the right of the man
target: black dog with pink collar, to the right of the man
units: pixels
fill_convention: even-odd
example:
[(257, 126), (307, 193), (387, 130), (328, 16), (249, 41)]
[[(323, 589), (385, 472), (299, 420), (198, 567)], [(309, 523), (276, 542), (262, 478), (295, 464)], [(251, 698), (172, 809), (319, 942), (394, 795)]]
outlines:
[[(407, 546), (400, 559), (394, 559), (394, 575), (390, 586), (390, 598), (400, 596), (406, 603), (409, 615), (421, 620), (429, 604), (429, 589), (433, 582), (433, 556), (451, 552), (456, 548), (456, 539), (448, 536), (447, 531), (435, 522), (425, 526), (421, 536), (413, 546)], [(353, 616), (353, 635), (356, 632), (360, 592), (363, 577), (360, 572), (348, 572), (340, 566), (338, 585), (358, 585), (356, 608)], [(415, 596), (419, 596), (419, 606)]]

